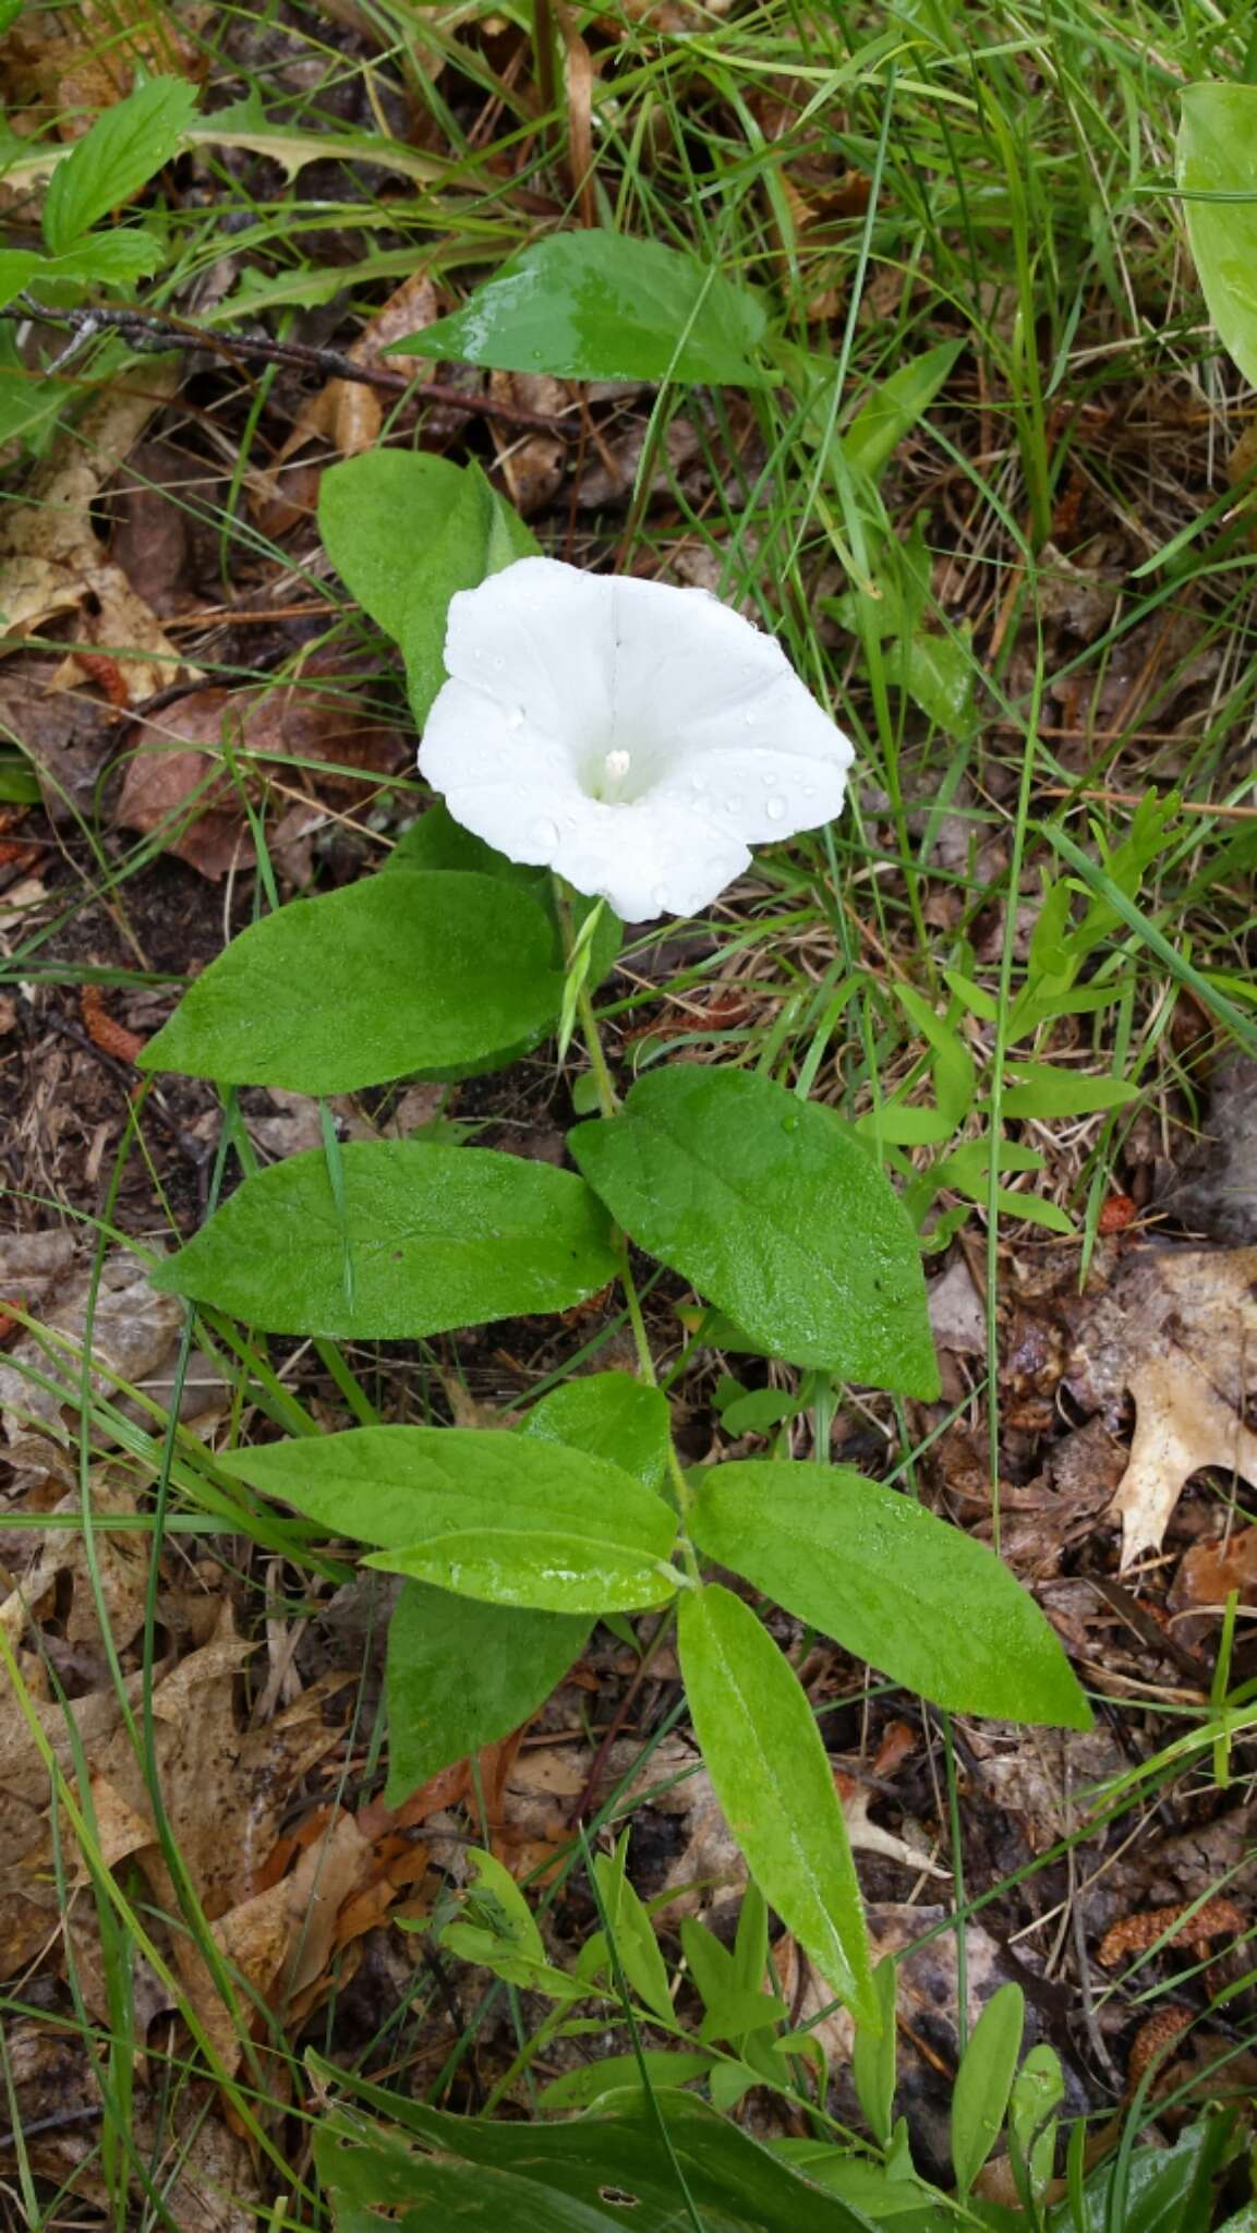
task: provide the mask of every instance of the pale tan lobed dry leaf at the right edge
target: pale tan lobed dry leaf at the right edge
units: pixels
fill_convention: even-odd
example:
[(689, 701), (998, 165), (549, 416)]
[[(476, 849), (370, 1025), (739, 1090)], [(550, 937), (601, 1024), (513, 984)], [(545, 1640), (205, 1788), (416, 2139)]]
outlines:
[(1257, 1248), (1139, 1248), (1076, 1324), (1067, 1384), (1119, 1422), (1136, 1407), (1112, 1503), (1121, 1563), (1159, 1550), (1188, 1478), (1206, 1467), (1257, 1485), (1241, 1411), (1257, 1384)]

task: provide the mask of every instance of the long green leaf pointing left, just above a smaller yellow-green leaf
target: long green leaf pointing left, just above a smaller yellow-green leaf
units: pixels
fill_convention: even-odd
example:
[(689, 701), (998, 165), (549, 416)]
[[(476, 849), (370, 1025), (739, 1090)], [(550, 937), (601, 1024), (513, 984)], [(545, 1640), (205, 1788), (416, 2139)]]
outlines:
[(493, 1427), (351, 1427), (214, 1463), (337, 1536), (384, 1550), (502, 1518), (516, 1532), (569, 1527), (589, 1539), (614, 1523), (621, 1545), (652, 1559), (665, 1559), (677, 1534), (663, 1498), (618, 1465)]

